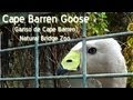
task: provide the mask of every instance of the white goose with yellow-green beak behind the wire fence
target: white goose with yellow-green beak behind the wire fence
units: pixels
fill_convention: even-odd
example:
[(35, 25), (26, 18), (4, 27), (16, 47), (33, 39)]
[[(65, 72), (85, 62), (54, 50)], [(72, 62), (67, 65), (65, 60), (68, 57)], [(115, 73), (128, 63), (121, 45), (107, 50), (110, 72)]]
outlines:
[[(86, 41), (86, 72), (127, 73), (122, 48), (113, 38)], [(57, 74), (82, 74), (82, 41), (62, 59)], [(71, 88), (82, 88), (82, 79), (68, 79)], [(89, 78), (88, 88), (126, 88), (126, 78)]]

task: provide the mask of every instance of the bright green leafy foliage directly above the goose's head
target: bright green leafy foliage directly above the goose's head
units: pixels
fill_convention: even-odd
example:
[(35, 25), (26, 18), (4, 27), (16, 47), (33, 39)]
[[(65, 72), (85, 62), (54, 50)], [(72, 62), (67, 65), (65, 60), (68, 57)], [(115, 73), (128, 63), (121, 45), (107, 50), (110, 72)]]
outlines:
[(89, 14), (89, 23), (88, 28), (88, 36), (94, 34), (104, 34), (108, 32), (108, 20), (105, 12), (88, 12)]

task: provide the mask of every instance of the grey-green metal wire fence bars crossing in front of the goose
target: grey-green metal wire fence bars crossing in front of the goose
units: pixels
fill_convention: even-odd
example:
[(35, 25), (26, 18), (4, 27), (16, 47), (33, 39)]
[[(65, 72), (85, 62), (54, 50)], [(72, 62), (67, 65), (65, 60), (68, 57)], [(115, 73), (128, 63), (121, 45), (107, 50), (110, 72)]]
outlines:
[[(133, 72), (127, 73), (99, 73), (99, 74), (89, 74), (86, 73), (86, 56), (85, 50), (86, 40), (95, 40), (95, 39), (104, 39), (104, 38), (115, 38), (115, 37), (123, 37), (123, 36), (133, 36), (132, 31), (125, 31), (125, 32), (117, 32), (117, 33), (109, 33), (104, 36), (94, 36), (94, 37), (86, 37), (86, 28), (85, 23), (83, 23), (83, 32), (82, 38), (78, 39), (71, 39), (69, 41), (57, 41), (57, 42), (48, 42), (48, 43), (39, 43), (38, 41), (34, 41), (34, 44), (23, 46), (23, 47), (16, 47), (16, 48), (8, 48), (8, 49), (0, 49), (0, 54), (2, 52), (9, 52), (9, 51), (16, 51), (16, 50), (25, 50), (25, 49), (34, 49), (34, 77), (18, 77), (18, 78), (1, 78), (1, 81), (24, 81), (24, 80), (33, 80), (34, 81), (34, 88), (39, 88), (39, 80), (53, 80), (53, 79), (83, 79), (83, 88), (88, 88), (86, 79), (88, 78), (119, 78), (119, 77), (133, 77)], [(35, 37), (38, 37), (39, 33), (35, 33)], [(1, 39), (0, 39), (1, 40)], [(39, 48), (40, 47), (48, 47), (48, 46), (57, 46), (57, 44), (65, 44), (65, 43), (72, 43), (72, 42), (79, 42), (82, 41), (83, 49), (82, 49), (82, 67), (83, 67), (83, 73), (82, 74), (73, 74), (73, 76), (39, 76)], [(0, 70), (1, 71), (1, 70)], [(0, 72), (1, 76), (1, 72)]]

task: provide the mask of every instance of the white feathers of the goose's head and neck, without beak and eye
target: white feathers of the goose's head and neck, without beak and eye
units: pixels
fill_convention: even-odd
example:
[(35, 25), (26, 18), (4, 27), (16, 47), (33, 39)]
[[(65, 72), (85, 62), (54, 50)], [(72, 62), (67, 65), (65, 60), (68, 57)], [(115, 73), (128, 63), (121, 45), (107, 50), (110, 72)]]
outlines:
[[(121, 46), (113, 38), (90, 40), (86, 41), (86, 48), (96, 48), (95, 54), (86, 53), (88, 73), (126, 73), (126, 66), (124, 57), (121, 52)], [(71, 50), (78, 50), (82, 52), (82, 42), (75, 44)], [(82, 62), (82, 59), (81, 59)], [(71, 72), (71, 74), (82, 73), (82, 67), (80, 72)], [(91, 79), (92, 80), (92, 79)], [(81, 88), (82, 79), (70, 79), (71, 87)], [(88, 81), (91, 86), (100, 88), (125, 88), (126, 78), (99, 78), (93, 82)]]

